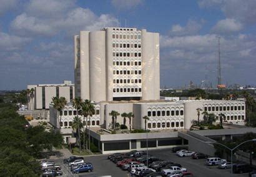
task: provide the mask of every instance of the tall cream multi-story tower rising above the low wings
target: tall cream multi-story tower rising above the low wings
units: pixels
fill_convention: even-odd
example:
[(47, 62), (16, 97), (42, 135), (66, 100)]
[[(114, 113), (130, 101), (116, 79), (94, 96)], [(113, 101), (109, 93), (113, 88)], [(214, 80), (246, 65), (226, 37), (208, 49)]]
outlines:
[(92, 101), (159, 99), (159, 34), (135, 28), (74, 37), (76, 96)]

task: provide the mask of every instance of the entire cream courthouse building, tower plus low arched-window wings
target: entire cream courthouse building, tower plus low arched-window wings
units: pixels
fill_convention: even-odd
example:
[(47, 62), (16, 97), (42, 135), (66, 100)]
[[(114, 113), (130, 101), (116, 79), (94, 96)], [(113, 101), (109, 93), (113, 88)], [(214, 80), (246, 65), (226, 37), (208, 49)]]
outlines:
[[(145, 134), (109, 134), (111, 111), (119, 112), (117, 122), (124, 124), (121, 114), (132, 112), (132, 129), (146, 128), (149, 148), (166, 148), (187, 144), (178, 136), (197, 120), (197, 108), (214, 113), (216, 122), (224, 114), (224, 122), (244, 125), (245, 102), (225, 100), (160, 99), (159, 34), (135, 28), (107, 27), (99, 31), (80, 31), (74, 36), (75, 95), (96, 104), (90, 122), (90, 138), (102, 153), (145, 149)], [(56, 110), (50, 105), (50, 122), (56, 124)], [(69, 103), (61, 112), (61, 132), (65, 141), (71, 137), (76, 109)], [(83, 119), (83, 117), (81, 116)], [(129, 119), (126, 117), (129, 127)], [(99, 134), (99, 130), (106, 130)]]

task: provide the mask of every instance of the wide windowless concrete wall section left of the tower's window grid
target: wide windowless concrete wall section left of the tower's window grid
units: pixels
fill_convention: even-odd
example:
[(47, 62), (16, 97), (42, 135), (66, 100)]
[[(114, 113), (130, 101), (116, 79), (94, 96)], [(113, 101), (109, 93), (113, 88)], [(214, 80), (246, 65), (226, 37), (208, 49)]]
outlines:
[(89, 34), (90, 99), (96, 102), (106, 100), (105, 38), (104, 31)]

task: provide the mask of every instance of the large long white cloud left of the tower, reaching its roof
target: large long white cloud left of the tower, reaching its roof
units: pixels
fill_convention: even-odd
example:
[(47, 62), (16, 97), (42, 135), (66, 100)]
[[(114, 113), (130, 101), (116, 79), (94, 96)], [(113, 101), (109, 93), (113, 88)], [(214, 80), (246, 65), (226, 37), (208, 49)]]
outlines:
[[(119, 21), (109, 14), (97, 16), (90, 9), (84, 9), (82, 7), (71, 8), (65, 13), (59, 11), (61, 14), (57, 13), (59, 15), (52, 16), (52, 18), (35, 15), (35, 9), (32, 9), (32, 7), (29, 7), (29, 11), (23, 12), (11, 22), (11, 29), (16, 34), (49, 37), (59, 32), (64, 32), (67, 35), (74, 35), (79, 30), (99, 30), (103, 27), (119, 24)], [(62, 7), (62, 9), (65, 8)], [(51, 10), (47, 7), (45, 10), (42, 8), (41, 12), (49, 11), (51, 14)]]

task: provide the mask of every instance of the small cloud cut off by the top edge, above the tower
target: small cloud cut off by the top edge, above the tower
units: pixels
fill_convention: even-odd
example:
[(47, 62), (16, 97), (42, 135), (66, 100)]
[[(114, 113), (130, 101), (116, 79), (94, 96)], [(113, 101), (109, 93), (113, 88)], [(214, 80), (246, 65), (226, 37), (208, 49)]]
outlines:
[(142, 0), (112, 0), (112, 5), (119, 10), (129, 10), (143, 3)]

